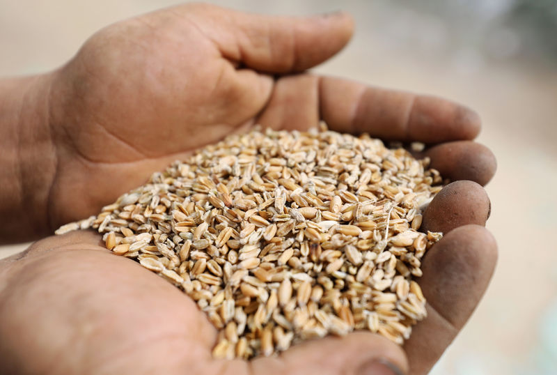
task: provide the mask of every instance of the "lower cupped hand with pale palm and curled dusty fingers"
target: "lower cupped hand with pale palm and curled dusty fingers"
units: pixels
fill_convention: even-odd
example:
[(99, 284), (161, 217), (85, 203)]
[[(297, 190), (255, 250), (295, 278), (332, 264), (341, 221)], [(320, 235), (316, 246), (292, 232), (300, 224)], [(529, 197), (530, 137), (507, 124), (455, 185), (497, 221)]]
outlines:
[[(444, 210), (435, 213), (440, 206)], [(425, 212), (424, 229), (439, 229), (448, 219), (457, 229), (424, 258), (418, 282), (428, 316), (414, 327), (404, 351), (361, 331), (304, 342), (277, 358), (252, 362), (212, 360), (217, 332), (194, 301), (138, 263), (111, 254), (97, 234), (40, 240), (0, 261), (0, 373), (389, 374), (379, 372), (388, 361), (400, 372), (425, 374), (492, 275), (492, 236), (480, 225), (458, 227), (483, 224), (488, 210), (483, 189), (459, 181)]]

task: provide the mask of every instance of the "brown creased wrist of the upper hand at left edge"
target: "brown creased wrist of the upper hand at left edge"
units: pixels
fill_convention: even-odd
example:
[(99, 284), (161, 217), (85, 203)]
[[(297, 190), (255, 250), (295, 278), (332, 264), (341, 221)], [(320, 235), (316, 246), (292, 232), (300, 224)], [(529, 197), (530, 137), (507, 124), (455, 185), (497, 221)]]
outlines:
[(0, 243), (50, 231), (48, 196), (56, 174), (49, 91), (54, 75), (0, 81)]

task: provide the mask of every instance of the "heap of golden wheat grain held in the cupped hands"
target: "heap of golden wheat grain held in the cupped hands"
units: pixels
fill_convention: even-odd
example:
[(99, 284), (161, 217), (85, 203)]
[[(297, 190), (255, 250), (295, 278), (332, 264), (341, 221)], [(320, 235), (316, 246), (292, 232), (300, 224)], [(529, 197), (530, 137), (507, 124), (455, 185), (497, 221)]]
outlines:
[(421, 207), (441, 177), (403, 148), (327, 130), (253, 130), (156, 173), (93, 227), (109, 250), (193, 298), (217, 358), (370, 330), (402, 344), (425, 317), (412, 277), (439, 238)]

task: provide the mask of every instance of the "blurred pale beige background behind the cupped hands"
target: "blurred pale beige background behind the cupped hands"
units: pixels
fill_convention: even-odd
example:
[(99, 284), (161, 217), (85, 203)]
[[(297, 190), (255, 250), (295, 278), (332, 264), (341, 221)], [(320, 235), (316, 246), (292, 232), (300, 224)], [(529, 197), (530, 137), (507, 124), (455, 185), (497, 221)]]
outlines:
[[(229, 0), (269, 14), (347, 10), (350, 45), (318, 72), (441, 95), (483, 118), (499, 244), (491, 285), (432, 374), (557, 374), (557, 0)], [(68, 61), (109, 23), (168, 0), (0, 0), (0, 76)], [(0, 257), (25, 245), (0, 247)]]

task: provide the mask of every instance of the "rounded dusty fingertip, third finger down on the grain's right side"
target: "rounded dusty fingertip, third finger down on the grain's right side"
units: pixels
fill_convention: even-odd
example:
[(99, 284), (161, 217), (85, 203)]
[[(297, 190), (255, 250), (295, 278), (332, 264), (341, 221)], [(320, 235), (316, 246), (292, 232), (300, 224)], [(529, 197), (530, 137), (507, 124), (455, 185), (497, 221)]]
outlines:
[(473, 181), (455, 181), (446, 185), (423, 213), (421, 231), (444, 234), (466, 224), (485, 226), (491, 203), (485, 190)]

